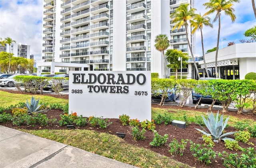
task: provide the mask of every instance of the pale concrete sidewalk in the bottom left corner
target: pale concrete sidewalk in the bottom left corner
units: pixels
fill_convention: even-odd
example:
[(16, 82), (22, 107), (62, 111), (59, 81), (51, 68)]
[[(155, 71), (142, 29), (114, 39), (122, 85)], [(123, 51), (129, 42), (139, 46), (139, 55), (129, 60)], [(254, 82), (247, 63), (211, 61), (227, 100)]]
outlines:
[(136, 168), (0, 125), (0, 168)]

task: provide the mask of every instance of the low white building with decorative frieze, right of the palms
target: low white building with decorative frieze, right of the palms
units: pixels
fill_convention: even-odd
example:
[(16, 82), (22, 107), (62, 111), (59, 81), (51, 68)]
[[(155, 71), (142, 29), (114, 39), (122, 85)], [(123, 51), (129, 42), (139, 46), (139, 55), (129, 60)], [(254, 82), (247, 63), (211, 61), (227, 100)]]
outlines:
[[(215, 55), (216, 51), (205, 54), (207, 68), (215, 68)], [(204, 68), (204, 61), (199, 64)], [(240, 43), (219, 49), (217, 66), (219, 78), (227, 78), (231, 74), (232, 79), (244, 79), (247, 73), (256, 72), (256, 43)], [(238, 70), (239, 75), (236, 76)]]

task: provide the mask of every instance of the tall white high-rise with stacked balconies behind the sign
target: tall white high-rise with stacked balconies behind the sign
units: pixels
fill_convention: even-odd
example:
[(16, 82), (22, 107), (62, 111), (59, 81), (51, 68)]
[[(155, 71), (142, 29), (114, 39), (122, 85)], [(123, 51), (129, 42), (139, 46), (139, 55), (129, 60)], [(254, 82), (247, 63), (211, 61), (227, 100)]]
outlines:
[[(44, 0), (38, 72), (150, 70), (163, 78), (162, 53), (154, 39), (166, 34), (169, 49), (190, 53), (184, 28), (171, 31), (170, 18), (180, 4), (190, 2), (193, 7), (194, 0)], [(194, 49), (194, 37), (188, 35)], [(183, 75), (190, 78), (192, 69), (189, 64)]]

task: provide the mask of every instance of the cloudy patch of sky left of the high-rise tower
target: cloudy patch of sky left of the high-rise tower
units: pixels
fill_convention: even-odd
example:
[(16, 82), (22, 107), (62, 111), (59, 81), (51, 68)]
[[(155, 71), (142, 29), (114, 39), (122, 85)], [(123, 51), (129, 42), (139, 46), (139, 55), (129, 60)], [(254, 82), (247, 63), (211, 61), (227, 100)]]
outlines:
[(40, 60), (43, 0), (2, 0), (0, 3), (0, 37), (30, 45), (30, 54)]

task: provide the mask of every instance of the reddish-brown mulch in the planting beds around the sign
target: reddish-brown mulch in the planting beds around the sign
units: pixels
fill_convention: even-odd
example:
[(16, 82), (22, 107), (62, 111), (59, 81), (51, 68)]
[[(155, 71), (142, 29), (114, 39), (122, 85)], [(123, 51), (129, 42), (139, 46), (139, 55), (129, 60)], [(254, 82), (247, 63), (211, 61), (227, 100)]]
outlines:
[[(11, 92), (11, 93), (19, 93), (19, 94), (31, 94), (31, 93), (25, 93), (25, 92), (19, 92), (19, 91), (15, 91), (15, 90), (2, 90), (2, 91), (6, 91), (6, 92)], [(34, 94), (31, 94), (34, 95)], [(54, 95), (54, 94), (44, 94), (47, 96), (53, 96), (55, 98), (63, 98), (63, 99), (68, 99), (68, 95), (62, 95), (62, 96), (58, 96), (58, 95)], [(182, 110), (190, 110), (190, 111), (202, 111), (207, 113), (207, 108), (198, 108), (198, 109), (194, 109), (193, 107), (188, 107), (185, 106), (183, 108), (177, 106), (177, 105), (164, 105), (164, 106), (159, 106), (157, 104), (152, 104), (152, 107), (157, 107), (157, 108), (164, 108), (167, 109), (169, 113), (176, 113), (175, 111), (173, 111), (172, 109), (182, 109)], [(218, 110), (213, 109), (212, 112), (216, 113)], [(58, 120), (60, 120), (60, 114), (63, 114), (63, 111), (61, 110), (48, 110), (46, 112), (47, 117), (54, 117)], [(251, 112), (248, 112), (245, 114), (237, 114), (236, 111), (228, 111), (225, 113), (225, 115), (234, 115), (240, 119), (242, 118), (250, 118), (250, 119), (254, 119), (254, 121), (256, 121), (256, 115), (253, 115)], [(189, 139), (192, 140), (194, 143), (198, 143), (198, 144), (203, 144), (204, 142), (202, 140), (200, 140), (200, 137), (202, 137), (202, 134), (199, 133), (198, 131), (196, 131), (196, 129), (194, 128), (198, 128), (201, 129), (199, 125), (197, 124), (189, 124), (187, 125), (187, 127), (185, 129), (182, 128), (178, 128), (178, 127), (174, 127), (172, 125), (158, 125), (156, 124), (156, 131), (160, 134), (160, 135), (164, 135), (164, 134), (168, 134), (168, 141), (167, 141), (167, 145), (164, 145), (163, 147), (152, 147), (149, 145), (149, 143), (152, 141), (152, 139), (154, 138), (154, 135), (152, 133), (152, 131), (146, 131), (146, 139), (143, 141), (135, 141), (131, 135), (131, 130), (128, 126), (123, 126), (121, 124), (121, 122), (119, 121), (119, 119), (109, 119), (109, 121), (112, 122), (111, 125), (108, 126), (108, 128), (106, 129), (101, 129), (101, 128), (91, 128), (90, 125), (86, 125), (85, 127), (76, 127), (76, 129), (88, 129), (88, 130), (95, 130), (95, 131), (99, 131), (99, 132), (103, 132), (103, 133), (110, 133), (112, 135), (116, 135), (116, 132), (120, 132), (120, 133), (126, 133), (126, 136), (124, 138), (124, 140), (127, 143), (130, 143), (132, 145), (135, 145), (137, 147), (144, 147), (147, 148), (149, 150), (152, 150), (154, 152), (157, 152), (159, 154), (168, 156), (174, 160), (178, 160), (179, 162), (182, 162), (184, 164), (190, 165), (190, 166), (194, 166), (196, 168), (224, 168), (224, 166), (222, 165), (222, 160), (216, 156), (215, 160), (212, 160), (212, 164), (210, 164), (209, 166), (206, 166), (202, 163), (199, 163), (196, 158), (194, 158), (194, 156), (192, 156), (192, 152), (190, 152), (189, 147), (190, 147), (190, 143), (188, 142), (186, 149), (184, 150), (184, 155), (180, 156), (180, 155), (170, 155), (170, 152), (168, 151), (170, 149), (170, 147), (168, 147), (168, 144), (175, 138), (178, 140), (178, 142), (181, 141), (181, 139)], [(4, 125), (6, 127), (10, 127), (13, 129), (66, 129), (66, 127), (60, 127), (57, 125), (48, 125), (45, 127), (42, 126), (35, 126), (35, 127), (28, 127), (26, 125), (20, 126), (20, 127), (16, 127), (14, 125), (12, 125), (12, 123), (6, 123), (3, 124), (1, 123), (1, 125)], [(226, 132), (232, 132), (232, 131), (237, 131), (236, 129), (234, 129), (233, 127), (227, 127), (226, 129), (224, 129), (224, 131)], [(229, 137), (234, 138), (233, 135), (230, 135)], [(248, 147), (254, 147), (256, 149), (256, 138), (251, 138), (250, 142), (252, 142), (254, 145), (247, 145), (244, 143), (239, 142), (240, 147), (243, 148), (248, 148)], [(215, 143), (215, 146), (213, 148), (214, 151), (216, 152), (222, 152), (222, 151), (226, 151), (228, 153), (235, 153), (237, 152), (238, 154), (241, 154), (240, 151), (232, 151), (229, 149), (226, 149), (224, 147), (224, 142), (220, 141), (218, 144)]]

